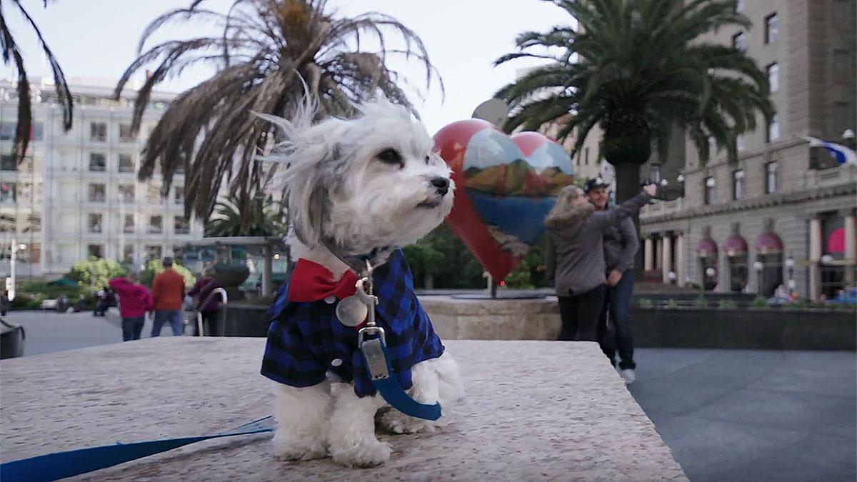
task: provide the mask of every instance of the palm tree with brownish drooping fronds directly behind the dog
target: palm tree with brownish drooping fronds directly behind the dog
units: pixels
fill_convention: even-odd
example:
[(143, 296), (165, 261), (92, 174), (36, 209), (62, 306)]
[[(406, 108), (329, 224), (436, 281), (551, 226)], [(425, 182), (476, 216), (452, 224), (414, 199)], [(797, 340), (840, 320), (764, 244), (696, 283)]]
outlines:
[[(178, 166), (187, 172), (185, 214), (202, 219), (211, 214), (221, 182), (229, 182), (243, 226), (255, 200), (265, 197), (273, 169), (255, 154), (275, 132), (253, 112), (289, 117), (304, 92), (318, 100), (320, 115), (348, 115), (352, 103), (387, 96), (409, 105), (399, 82), (406, 79), (387, 68), (387, 58), (416, 59), (426, 71), (426, 84), (437, 78), (422, 40), (393, 17), (378, 13), (339, 18), (327, 0), (235, 0), (228, 13), (202, 9), (194, 0), (155, 19), (142, 35), (139, 57), (116, 88), (116, 96), (136, 71), (159, 61), (135, 101), (132, 130), (140, 129), (153, 87), (169, 75), (180, 75), (196, 63), (213, 63), (218, 72), (180, 94), (148, 138), (138, 177), (152, 178), (159, 163), (164, 192)], [(171, 40), (143, 52), (150, 35), (170, 21), (215, 21), (222, 33)], [(398, 34), (403, 45), (388, 44)], [(370, 49), (369, 47), (376, 48)], [(442, 86), (441, 86), (442, 87)]]

